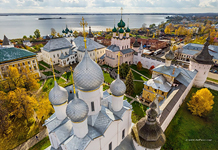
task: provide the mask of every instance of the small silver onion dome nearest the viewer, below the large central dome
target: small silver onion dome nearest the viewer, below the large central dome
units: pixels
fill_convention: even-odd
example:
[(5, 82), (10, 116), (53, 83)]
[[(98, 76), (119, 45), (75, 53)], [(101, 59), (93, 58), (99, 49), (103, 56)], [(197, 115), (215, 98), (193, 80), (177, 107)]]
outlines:
[(84, 121), (88, 117), (89, 107), (81, 99), (75, 97), (67, 105), (66, 114), (72, 122), (79, 123)]

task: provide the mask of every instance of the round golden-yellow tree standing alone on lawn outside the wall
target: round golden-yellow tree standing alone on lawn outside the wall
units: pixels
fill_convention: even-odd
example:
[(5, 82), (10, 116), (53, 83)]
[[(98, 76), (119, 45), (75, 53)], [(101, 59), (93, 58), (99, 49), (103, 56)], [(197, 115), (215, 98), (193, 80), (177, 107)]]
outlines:
[(188, 109), (193, 115), (203, 116), (212, 110), (214, 104), (214, 96), (207, 89), (203, 88), (193, 94), (191, 100), (187, 103)]

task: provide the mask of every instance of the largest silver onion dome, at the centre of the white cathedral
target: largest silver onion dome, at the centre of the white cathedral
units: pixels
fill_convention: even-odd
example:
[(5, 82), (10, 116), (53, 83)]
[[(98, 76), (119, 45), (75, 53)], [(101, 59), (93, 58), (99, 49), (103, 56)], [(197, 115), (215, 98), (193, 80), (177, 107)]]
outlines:
[(89, 57), (87, 50), (74, 69), (73, 78), (76, 86), (83, 91), (95, 90), (102, 85), (104, 76), (101, 67)]

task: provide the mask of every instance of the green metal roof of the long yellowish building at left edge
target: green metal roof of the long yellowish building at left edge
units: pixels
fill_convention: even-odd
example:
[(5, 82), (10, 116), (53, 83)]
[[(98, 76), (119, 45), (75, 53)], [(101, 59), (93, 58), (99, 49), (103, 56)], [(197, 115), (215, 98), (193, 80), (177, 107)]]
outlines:
[(35, 53), (20, 48), (0, 48), (0, 63), (36, 56)]

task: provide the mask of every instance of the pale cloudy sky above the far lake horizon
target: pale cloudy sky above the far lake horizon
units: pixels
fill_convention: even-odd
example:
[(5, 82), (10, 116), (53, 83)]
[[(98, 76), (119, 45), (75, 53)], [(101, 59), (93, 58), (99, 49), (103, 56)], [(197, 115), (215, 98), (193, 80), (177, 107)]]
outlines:
[(0, 13), (218, 13), (218, 0), (0, 0)]

